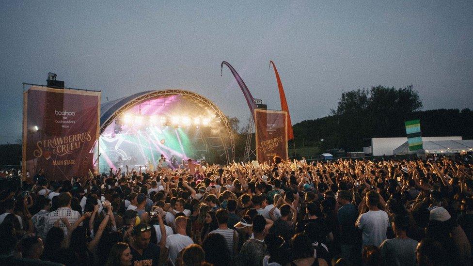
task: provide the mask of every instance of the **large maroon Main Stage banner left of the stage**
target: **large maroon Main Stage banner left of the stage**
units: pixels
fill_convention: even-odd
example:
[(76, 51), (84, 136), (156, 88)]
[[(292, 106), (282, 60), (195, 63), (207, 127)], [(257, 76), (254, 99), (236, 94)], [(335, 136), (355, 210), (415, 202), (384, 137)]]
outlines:
[(23, 178), (41, 169), (48, 180), (92, 170), (100, 92), (31, 87), (23, 94)]

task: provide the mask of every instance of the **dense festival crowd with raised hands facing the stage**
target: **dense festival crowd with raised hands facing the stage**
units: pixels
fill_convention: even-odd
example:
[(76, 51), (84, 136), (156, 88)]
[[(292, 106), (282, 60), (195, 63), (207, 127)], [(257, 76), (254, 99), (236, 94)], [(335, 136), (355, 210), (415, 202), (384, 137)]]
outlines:
[(0, 191), (1, 265), (471, 265), (471, 157), (199, 165)]

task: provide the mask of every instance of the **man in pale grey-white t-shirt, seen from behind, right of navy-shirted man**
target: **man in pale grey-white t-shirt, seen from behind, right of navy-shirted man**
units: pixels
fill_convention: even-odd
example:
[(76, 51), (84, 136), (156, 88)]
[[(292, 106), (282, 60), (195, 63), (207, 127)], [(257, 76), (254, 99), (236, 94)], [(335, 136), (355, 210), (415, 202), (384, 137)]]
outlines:
[(360, 214), (355, 226), (363, 232), (363, 246), (373, 245), (379, 247), (387, 239), (386, 230), (389, 227), (388, 214), (378, 208), (379, 194), (369, 191), (366, 194), (366, 204), (369, 211)]

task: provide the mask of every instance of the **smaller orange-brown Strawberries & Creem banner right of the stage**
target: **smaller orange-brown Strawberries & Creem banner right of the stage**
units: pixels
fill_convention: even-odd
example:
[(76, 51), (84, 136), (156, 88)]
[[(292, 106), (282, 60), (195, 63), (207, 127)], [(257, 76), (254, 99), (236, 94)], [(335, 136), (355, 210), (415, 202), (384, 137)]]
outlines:
[(256, 159), (272, 161), (274, 156), (287, 159), (287, 112), (254, 110), (256, 127)]

